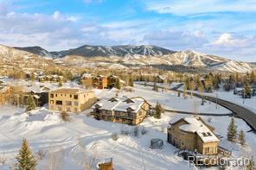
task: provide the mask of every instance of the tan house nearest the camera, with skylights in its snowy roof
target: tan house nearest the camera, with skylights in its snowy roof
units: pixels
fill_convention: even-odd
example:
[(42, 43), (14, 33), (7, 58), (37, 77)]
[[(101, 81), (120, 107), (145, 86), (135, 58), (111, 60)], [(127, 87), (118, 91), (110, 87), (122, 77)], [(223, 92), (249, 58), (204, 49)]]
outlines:
[(180, 149), (213, 155), (218, 154), (220, 140), (201, 117), (189, 116), (170, 123), (168, 142)]

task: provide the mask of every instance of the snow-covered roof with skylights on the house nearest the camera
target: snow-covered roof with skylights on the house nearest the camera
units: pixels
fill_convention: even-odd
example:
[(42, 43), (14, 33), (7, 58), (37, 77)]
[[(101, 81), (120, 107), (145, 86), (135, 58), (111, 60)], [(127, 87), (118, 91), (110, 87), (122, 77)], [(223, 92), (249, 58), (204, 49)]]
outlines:
[(179, 129), (196, 133), (203, 142), (220, 142), (218, 137), (214, 135), (212, 130), (208, 129), (208, 126), (199, 117), (189, 116), (183, 118), (183, 120), (188, 124), (181, 125)]

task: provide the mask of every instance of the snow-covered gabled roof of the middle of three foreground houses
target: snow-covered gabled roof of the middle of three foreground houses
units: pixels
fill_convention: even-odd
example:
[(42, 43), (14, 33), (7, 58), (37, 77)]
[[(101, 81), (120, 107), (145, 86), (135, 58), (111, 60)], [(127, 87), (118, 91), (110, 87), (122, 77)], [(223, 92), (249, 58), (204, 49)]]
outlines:
[(97, 104), (93, 105), (93, 108), (98, 105), (99, 110), (115, 110), (122, 112), (125, 112), (130, 108), (132, 110), (131, 112), (137, 113), (144, 102), (143, 98), (110, 98), (99, 101)]

